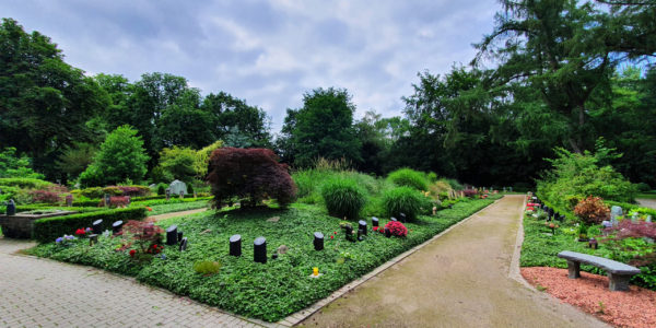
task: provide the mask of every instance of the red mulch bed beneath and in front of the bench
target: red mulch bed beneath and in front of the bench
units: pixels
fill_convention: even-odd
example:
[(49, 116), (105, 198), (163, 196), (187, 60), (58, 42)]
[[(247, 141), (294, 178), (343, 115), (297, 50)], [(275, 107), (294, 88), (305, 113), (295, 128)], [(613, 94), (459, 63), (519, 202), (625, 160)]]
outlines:
[[(566, 269), (522, 268), (534, 286), (619, 327), (656, 327), (656, 292), (631, 285), (628, 292), (608, 290), (608, 277), (581, 272), (569, 279)], [(541, 289), (540, 288), (540, 289)]]

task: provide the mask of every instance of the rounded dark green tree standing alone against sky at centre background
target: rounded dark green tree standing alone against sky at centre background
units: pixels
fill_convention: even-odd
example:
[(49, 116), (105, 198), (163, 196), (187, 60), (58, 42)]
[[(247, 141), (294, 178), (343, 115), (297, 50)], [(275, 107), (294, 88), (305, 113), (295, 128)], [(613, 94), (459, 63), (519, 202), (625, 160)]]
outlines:
[(303, 108), (293, 114), (294, 164), (309, 166), (318, 157), (361, 162), (361, 143), (353, 128), (354, 112), (347, 90), (319, 87), (306, 93)]

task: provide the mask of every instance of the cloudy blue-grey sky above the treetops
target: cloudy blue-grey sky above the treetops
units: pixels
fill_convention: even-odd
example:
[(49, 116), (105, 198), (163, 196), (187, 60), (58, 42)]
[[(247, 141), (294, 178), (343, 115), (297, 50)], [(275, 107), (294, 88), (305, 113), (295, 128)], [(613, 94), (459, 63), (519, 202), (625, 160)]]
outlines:
[(87, 74), (181, 75), (203, 95), (225, 91), (263, 108), (273, 131), (319, 86), (345, 87), (356, 117), (401, 115), (417, 73), (468, 63), (499, 9), (494, 0), (0, 2), (2, 16), (51, 37)]

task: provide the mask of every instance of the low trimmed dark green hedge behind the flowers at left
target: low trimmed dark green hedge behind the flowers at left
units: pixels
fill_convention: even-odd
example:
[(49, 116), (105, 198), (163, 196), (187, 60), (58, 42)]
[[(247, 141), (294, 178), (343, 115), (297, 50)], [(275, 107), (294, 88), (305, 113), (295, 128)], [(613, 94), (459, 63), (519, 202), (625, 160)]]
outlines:
[(143, 220), (145, 208), (116, 209), (105, 211), (93, 211), (66, 216), (46, 218), (34, 221), (33, 238), (40, 243), (52, 242), (65, 234), (73, 234), (77, 229), (89, 227), (91, 224), (103, 219), (104, 229), (110, 227), (115, 221)]

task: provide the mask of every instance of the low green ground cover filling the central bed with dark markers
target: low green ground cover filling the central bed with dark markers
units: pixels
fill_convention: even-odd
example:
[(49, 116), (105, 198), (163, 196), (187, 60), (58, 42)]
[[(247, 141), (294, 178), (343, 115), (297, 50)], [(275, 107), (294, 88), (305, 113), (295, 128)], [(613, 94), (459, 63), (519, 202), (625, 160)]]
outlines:
[[(328, 216), (320, 207), (296, 203), (288, 210), (223, 210), (163, 220), (157, 224), (163, 227), (176, 224), (184, 232), (189, 238), (188, 249), (180, 253), (176, 246), (166, 247), (163, 250), (166, 259), (154, 258), (150, 262), (133, 261), (128, 250), (116, 251), (120, 239), (110, 237), (101, 237), (93, 247), (85, 241), (75, 241), (71, 247), (51, 243), (30, 253), (134, 276), (139, 281), (232, 313), (277, 321), (492, 202), (492, 199), (461, 201), (435, 216), (422, 215), (417, 223), (407, 224), (409, 234), (405, 238), (386, 238), (370, 226), (365, 241), (352, 243), (344, 238), (339, 219)], [(380, 224), (385, 223), (382, 220)], [(313, 248), (314, 232), (326, 236), (323, 251)], [(242, 235), (242, 257), (229, 256), (229, 238), (233, 234)], [(253, 261), (253, 241), (259, 236), (267, 238), (266, 265)], [(281, 245), (289, 251), (271, 259), (270, 255)], [(221, 270), (207, 277), (196, 273), (194, 263), (206, 260), (219, 261)], [(320, 278), (309, 278), (313, 267), (319, 268)]]

